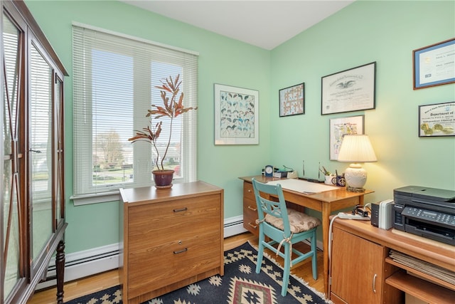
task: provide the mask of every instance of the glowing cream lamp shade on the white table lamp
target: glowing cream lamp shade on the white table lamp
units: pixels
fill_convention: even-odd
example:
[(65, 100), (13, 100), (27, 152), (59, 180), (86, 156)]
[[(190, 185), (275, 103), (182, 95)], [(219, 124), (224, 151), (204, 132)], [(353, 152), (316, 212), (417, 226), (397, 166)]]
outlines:
[(368, 135), (345, 135), (338, 153), (338, 162), (377, 162)]

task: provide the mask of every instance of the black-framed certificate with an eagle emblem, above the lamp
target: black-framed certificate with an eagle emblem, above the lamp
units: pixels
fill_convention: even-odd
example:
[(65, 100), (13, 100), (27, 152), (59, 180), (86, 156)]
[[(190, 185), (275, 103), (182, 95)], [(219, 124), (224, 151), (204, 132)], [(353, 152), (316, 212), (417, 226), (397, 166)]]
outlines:
[(376, 63), (321, 78), (321, 115), (375, 108)]

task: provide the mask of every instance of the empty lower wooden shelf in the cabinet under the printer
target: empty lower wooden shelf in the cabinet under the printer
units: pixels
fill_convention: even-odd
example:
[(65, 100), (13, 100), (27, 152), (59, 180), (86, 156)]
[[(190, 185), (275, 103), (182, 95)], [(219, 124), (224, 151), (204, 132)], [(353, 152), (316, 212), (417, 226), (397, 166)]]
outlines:
[[(389, 262), (387, 261), (387, 263)], [(454, 303), (454, 290), (449, 290), (434, 283), (424, 281), (421, 278), (416, 278), (405, 273), (405, 271), (397, 271), (392, 276), (386, 278), (385, 283), (427, 303)]]

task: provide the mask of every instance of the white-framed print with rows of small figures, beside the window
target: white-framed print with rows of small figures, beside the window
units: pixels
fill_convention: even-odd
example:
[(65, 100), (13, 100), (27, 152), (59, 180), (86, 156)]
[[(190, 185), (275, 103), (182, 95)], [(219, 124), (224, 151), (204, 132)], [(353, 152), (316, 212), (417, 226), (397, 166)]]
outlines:
[(259, 144), (259, 91), (215, 83), (215, 145)]

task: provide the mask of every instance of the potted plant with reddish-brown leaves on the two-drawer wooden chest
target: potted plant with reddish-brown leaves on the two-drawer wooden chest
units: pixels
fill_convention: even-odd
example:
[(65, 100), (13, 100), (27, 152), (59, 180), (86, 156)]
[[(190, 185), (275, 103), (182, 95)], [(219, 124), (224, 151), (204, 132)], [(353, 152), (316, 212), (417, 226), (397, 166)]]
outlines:
[[(183, 106), (183, 92), (180, 93), (181, 81), (179, 78), (180, 75), (177, 75), (176, 78), (169, 76), (168, 78), (161, 80), (161, 85), (157, 85), (155, 87), (160, 89), (163, 105), (151, 105), (151, 109), (147, 110), (146, 114), (146, 117), (150, 117), (150, 125), (142, 128), (142, 130), (135, 130), (136, 135), (129, 138), (129, 141), (132, 143), (145, 141), (150, 142), (154, 147), (156, 152), (155, 167), (157, 169), (153, 170), (152, 174), (154, 176), (155, 187), (157, 189), (172, 187), (171, 182), (174, 171), (171, 169), (164, 169), (164, 159), (166, 159), (169, 145), (171, 145), (173, 119), (178, 117), (178, 115), (188, 112), (189, 110), (197, 110), (197, 107), (185, 108)], [(171, 97), (168, 97), (168, 95), (166, 95), (167, 93), (170, 93)], [(178, 93), (180, 93), (180, 95), (178, 95)], [(154, 117), (152, 118), (151, 116)], [(161, 134), (161, 125), (163, 124), (160, 120), (161, 117), (168, 117), (169, 119), (169, 135), (167, 138), (166, 150), (164, 150), (163, 155), (160, 156), (160, 152), (156, 145), (159, 135)], [(158, 120), (158, 122), (153, 124), (153, 119)]]

